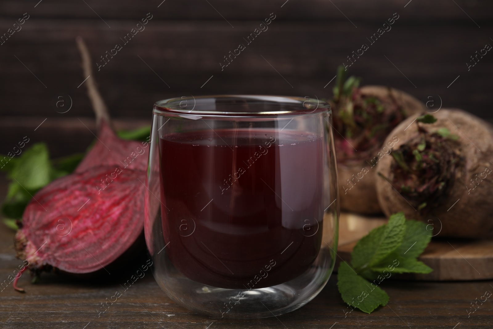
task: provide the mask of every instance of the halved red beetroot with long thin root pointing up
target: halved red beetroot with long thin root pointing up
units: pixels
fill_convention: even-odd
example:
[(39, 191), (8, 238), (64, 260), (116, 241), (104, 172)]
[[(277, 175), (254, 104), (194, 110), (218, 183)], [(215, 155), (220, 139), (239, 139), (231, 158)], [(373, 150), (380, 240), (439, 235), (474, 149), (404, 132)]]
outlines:
[[(36, 275), (53, 268), (77, 274), (107, 271), (136, 244), (143, 229), (148, 143), (115, 136), (80, 37), (77, 45), (84, 77), (89, 76), (85, 83), (98, 137), (74, 173), (38, 191), (23, 214), (15, 247)], [(18, 279), (13, 286), (22, 291)]]

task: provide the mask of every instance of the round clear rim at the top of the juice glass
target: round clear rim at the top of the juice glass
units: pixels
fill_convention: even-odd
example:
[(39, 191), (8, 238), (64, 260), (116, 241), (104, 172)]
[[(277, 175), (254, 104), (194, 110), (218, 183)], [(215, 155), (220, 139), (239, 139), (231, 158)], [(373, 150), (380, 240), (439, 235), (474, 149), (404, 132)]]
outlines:
[[(211, 99), (224, 99), (231, 102), (230, 105), (235, 106), (234, 101), (250, 101), (251, 105), (261, 103), (269, 103), (274, 109), (260, 110), (260, 111), (241, 111), (241, 110), (200, 110), (195, 109), (199, 100), (211, 100)], [(191, 110), (188, 110), (188, 102), (193, 101)], [(183, 105), (184, 104), (184, 105)], [(205, 102), (204, 102), (205, 104)], [(211, 105), (211, 103), (209, 103)], [(222, 104), (224, 106), (227, 103)], [(236, 104), (239, 106), (238, 104)], [(276, 109), (279, 107), (279, 109)], [(323, 112), (331, 112), (330, 104), (321, 101), (318, 98), (310, 97), (296, 97), (296, 96), (277, 96), (277, 95), (204, 95), (194, 97), (175, 97), (169, 98), (154, 103), (154, 111), (161, 113), (170, 113), (178, 115), (199, 115), (199, 116), (221, 116), (221, 117), (278, 117), (278, 116), (290, 116), (290, 115), (306, 115), (306, 114), (319, 114)]]

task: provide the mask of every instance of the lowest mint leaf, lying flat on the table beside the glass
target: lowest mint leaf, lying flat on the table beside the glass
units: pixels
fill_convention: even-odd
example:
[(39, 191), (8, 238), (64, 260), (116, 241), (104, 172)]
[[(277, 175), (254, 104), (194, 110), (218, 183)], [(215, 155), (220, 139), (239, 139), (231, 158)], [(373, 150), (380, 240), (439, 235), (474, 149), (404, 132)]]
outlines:
[(337, 279), (342, 299), (363, 312), (370, 314), (377, 307), (388, 303), (387, 292), (357, 275), (346, 262), (341, 262)]

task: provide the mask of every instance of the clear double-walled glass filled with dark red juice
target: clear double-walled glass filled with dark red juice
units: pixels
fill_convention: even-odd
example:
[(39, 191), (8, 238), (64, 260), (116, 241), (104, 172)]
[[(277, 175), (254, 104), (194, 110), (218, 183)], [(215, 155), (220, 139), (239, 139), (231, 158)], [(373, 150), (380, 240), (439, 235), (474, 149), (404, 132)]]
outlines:
[(312, 300), (337, 248), (329, 105), (223, 95), (159, 101), (153, 113), (145, 239), (159, 286), (213, 318)]

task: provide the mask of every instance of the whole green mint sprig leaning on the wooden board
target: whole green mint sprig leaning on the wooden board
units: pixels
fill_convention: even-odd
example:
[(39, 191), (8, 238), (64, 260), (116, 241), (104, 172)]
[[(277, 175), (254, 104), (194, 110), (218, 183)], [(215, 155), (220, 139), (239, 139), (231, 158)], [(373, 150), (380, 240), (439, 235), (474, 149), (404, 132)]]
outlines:
[(432, 231), (426, 226), (397, 213), (361, 238), (352, 250), (351, 265), (339, 266), (337, 287), (342, 299), (370, 314), (387, 305), (389, 297), (379, 285), (392, 274), (433, 271), (417, 259), (431, 240)]

